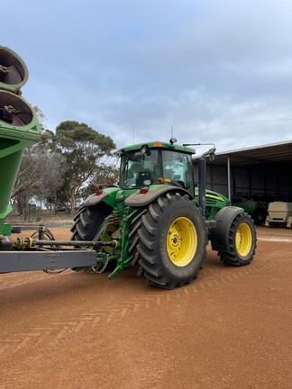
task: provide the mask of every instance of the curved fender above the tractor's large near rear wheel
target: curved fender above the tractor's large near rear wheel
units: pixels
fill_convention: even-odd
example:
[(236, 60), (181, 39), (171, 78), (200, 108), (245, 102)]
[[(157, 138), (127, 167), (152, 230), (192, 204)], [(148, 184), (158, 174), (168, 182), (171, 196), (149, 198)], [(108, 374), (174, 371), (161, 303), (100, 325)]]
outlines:
[(140, 192), (138, 192), (137, 194), (129, 195), (129, 197), (127, 197), (127, 199), (125, 200), (124, 204), (134, 208), (146, 206), (148, 204), (151, 204), (158, 197), (160, 197), (160, 195), (164, 195), (169, 192), (176, 192), (180, 195), (188, 195), (190, 200), (194, 198), (194, 196), (191, 195), (187, 191), (187, 189), (173, 185), (161, 185), (160, 188), (152, 191), (150, 190), (146, 194), (141, 194)]

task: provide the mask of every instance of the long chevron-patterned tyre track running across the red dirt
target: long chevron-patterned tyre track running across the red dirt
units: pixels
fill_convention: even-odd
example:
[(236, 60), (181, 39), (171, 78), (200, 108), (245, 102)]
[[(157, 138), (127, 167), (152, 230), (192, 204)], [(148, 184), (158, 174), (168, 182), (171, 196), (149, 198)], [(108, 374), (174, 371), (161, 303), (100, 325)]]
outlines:
[[(275, 255), (277, 255), (277, 258), (274, 258)], [(254, 262), (249, 267), (224, 267), (224, 271), (219, 273), (214, 269), (205, 267), (194, 283), (173, 291), (150, 289), (149, 294), (143, 295), (141, 298), (135, 297), (127, 299), (122, 303), (116, 303), (113, 308), (85, 311), (78, 316), (73, 314), (72, 316), (62, 318), (62, 321), (49, 321), (45, 327), (31, 326), (27, 330), (16, 334), (1, 332), (0, 361), (5, 358), (6, 353), (13, 355), (23, 351), (25, 348), (40, 348), (42, 343), (56, 347), (60, 341), (68, 339), (71, 333), (78, 333), (82, 330), (95, 330), (101, 322), (122, 321), (125, 316), (139, 310), (151, 310), (163, 303), (175, 303), (176, 300), (179, 302), (181, 298), (191, 294), (200, 294), (205, 289), (221, 288), (223, 285), (234, 280), (244, 279), (246, 276), (258, 276), (262, 269), (269, 269), (279, 264), (291, 262), (287, 249), (275, 250), (273, 253), (267, 253), (265, 257), (269, 259), (267, 263), (257, 264)], [(202, 279), (203, 276), (204, 279)], [(42, 275), (40, 277), (29, 277), (26, 282), (33, 283), (41, 280), (43, 280)], [(5, 285), (5, 288), (19, 287), (24, 284), (15, 281)], [(108, 287), (110, 288), (110, 285)]]

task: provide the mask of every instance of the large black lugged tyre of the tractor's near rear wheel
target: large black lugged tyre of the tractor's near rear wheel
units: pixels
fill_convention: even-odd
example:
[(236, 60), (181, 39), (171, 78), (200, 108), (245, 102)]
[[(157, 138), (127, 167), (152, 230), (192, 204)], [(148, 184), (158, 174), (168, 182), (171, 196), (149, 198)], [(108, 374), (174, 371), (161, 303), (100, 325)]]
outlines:
[[(193, 231), (193, 228), (196, 231), (196, 250), (190, 251), (191, 260), (186, 266), (175, 264), (168, 249), (169, 231), (178, 218), (187, 220), (187, 226), (190, 226), (187, 227), (188, 231)], [(137, 246), (141, 274), (151, 285), (173, 289), (189, 284), (196, 278), (205, 258), (207, 239), (205, 222), (195, 202), (190, 201), (187, 195), (181, 196), (178, 193), (161, 195), (148, 206), (146, 213), (137, 222), (141, 223)], [(191, 246), (190, 241), (183, 240), (185, 238), (179, 238), (179, 250), (186, 248), (183, 245)]]

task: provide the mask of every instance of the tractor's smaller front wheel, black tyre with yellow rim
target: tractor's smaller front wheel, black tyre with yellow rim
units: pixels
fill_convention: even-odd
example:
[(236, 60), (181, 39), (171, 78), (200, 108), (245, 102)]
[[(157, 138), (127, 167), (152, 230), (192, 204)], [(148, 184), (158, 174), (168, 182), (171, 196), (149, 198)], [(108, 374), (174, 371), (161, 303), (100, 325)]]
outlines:
[[(242, 229), (246, 232), (241, 233)], [(226, 265), (235, 267), (249, 265), (257, 248), (257, 233), (251, 216), (247, 213), (239, 213), (234, 218), (230, 231), (227, 231), (227, 233), (229, 247), (226, 251), (219, 251), (219, 257)], [(241, 236), (240, 243), (236, 243), (237, 234)], [(247, 240), (251, 240), (251, 242)]]

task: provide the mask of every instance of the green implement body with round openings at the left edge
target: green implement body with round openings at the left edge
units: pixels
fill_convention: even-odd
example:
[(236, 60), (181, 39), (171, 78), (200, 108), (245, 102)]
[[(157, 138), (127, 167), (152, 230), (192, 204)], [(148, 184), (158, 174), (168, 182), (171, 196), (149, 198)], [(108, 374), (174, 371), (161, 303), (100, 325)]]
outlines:
[(0, 235), (11, 233), (5, 218), (12, 211), (10, 197), (23, 149), (38, 141), (41, 134), (32, 107), (21, 96), (27, 79), (23, 59), (0, 46)]

